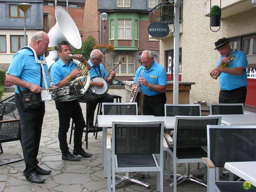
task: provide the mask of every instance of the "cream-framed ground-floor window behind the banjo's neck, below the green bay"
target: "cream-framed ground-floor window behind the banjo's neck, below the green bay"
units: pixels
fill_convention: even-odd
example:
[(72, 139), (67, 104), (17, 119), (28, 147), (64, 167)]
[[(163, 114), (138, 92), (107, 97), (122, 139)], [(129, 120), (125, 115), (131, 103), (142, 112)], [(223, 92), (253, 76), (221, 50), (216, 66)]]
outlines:
[[(119, 61), (119, 58), (121, 58), (124, 55), (116, 55), (113, 57), (113, 68), (116, 66), (116, 64)], [(124, 56), (124, 62), (122, 62), (118, 68), (116, 68), (115, 72), (117, 75), (134, 75), (134, 66), (135, 66), (135, 59), (132, 55), (125, 55)], [(125, 73), (121, 73), (121, 68), (125, 68)], [(130, 71), (129, 71), (130, 67)]]

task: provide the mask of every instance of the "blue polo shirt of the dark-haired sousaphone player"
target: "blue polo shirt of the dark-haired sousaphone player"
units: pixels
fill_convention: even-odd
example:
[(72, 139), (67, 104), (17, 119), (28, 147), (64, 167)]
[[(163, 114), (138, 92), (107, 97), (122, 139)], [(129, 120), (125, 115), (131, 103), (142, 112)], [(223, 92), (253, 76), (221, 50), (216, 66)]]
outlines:
[(50, 76), (52, 79), (52, 83), (54, 85), (58, 84), (62, 79), (64, 79), (72, 70), (76, 68), (76, 64), (74, 64), (71, 60), (69, 60), (68, 65), (66, 65), (60, 58), (56, 61), (50, 72)]

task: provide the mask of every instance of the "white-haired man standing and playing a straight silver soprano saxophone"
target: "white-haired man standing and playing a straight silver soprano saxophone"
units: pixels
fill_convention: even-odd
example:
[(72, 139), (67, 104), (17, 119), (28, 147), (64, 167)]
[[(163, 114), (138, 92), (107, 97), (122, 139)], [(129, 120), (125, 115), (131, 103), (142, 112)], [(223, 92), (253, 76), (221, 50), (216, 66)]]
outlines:
[[(164, 116), (166, 104), (167, 74), (163, 66), (154, 61), (151, 51), (143, 51), (141, 55), (142, 66), (138, 68), (131, 91), (134, 92), (136, 83), (139, 82), (143, 96), (143, 115)], [(142, 77), (143, 69), (144, 73)]]

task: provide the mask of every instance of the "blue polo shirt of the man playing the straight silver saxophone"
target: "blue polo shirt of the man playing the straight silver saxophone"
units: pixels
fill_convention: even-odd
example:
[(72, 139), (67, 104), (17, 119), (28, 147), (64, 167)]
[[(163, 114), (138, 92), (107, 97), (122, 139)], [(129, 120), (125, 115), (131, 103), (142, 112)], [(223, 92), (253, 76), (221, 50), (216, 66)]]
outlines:
[[(138, 81), (138, 78), (140, 74), (142, 73), (144, 69), (144, 66), (140, 66), (138, 70), (136, 71), (135, 78), (134, 78), (134, 83)], [(164, 69), (163, 66), (158, 64), (157, 62), (153, 62), (153, 65), (149, 70), (145, 70), (144, 74), (142, 76), (144, 79), (146, 79), (147, 82), (150, 82), (152, 84), (158, 84), (158, 85), (167, 85), (167, 74), (166, 70)], [(160, 94), (161, 92), (154, 91), (150, 89), (149, 87), (144, 86), (143, 84), (140, 85), (142, 93), (144, 95), (148, 96), (154, 96), (157, 94)]]

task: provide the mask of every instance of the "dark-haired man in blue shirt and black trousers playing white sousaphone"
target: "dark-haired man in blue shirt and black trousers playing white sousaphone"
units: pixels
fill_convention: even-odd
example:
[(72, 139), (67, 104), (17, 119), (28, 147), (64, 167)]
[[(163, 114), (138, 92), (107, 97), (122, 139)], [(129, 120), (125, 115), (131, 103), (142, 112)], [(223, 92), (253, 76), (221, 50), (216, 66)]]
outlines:
[[(62, 41), (57, 46), (59, 60), (54, 63), (51, 68), (50, 76), (52, 83), (56, 86), (66, 86), (72, 79), (81, 74), (80, 69), (76, 69), (76, 65), (70, 60), (70, 46), (67, 41)], [(82, 55), (75, 54), (74, 58), (83, 62)], [(86, 62), (86, 66), (90, 69), (90, 65)], [(71, 101), (55, 100), (56, 109), (59, 114), (59, 133), (60, 150), (62, 152), (62, 160), (78, 161), (77, 155), (90, 157), (92, 154), (87, 153), (82, 148), (82, 134), (85, 127), (82, 109), (78, 99)], [(74, 121), (76, 129), (74, 130), (74, 150), (73, 155), (68, 150), (67, 132), (70, 127), (70, 118)], [(74, 156), (76, 155), (76, 156)]]

